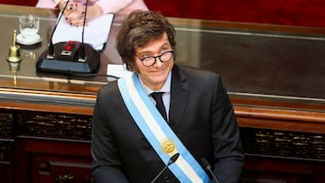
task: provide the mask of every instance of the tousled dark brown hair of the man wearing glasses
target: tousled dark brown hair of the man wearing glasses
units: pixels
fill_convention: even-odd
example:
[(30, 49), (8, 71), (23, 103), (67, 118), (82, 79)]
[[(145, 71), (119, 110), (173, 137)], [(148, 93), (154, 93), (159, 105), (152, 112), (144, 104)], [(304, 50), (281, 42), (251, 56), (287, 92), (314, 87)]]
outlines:
[(166, 32), (168, 40), (175, 50), (175, 29), (163, 14), (153, 11), (134, 11), (122, 23), (116, 36), (116, 49), (126, 69), (137, 71), (135, 67), (135, 49), (152, 40), (162, 38)]

